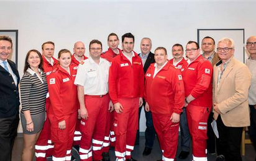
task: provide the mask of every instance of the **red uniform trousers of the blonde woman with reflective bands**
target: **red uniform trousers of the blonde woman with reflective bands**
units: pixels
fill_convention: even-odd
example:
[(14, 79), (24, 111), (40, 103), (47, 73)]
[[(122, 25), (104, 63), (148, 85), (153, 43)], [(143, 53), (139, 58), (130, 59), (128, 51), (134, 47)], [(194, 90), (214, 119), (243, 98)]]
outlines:
[(54, 143), (52, 160), (71, 160), (71, 148), (75, 132), (77, 112), (65, 115), (65, 129), (58, 128), (58, 121), (54, 115), (49, 115), (51, 122), (51, 136)]

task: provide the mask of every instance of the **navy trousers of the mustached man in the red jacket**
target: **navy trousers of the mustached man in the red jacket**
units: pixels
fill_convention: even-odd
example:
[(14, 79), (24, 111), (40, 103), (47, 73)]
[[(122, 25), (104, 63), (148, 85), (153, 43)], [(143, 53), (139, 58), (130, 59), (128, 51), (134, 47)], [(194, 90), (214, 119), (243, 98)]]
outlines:
[(190, 151), (190, 131), (188, 129), (188, 121), (186, 121), (186, 109), (180, 115), (180, 146), (181, 150), (185, 152)]

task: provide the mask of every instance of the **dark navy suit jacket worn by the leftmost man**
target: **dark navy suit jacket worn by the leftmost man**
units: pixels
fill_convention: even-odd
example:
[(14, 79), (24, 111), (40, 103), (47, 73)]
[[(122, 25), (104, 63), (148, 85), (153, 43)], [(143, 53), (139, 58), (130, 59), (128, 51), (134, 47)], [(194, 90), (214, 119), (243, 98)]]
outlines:
[(12, 71), (17, 77), (17, 85), (15, 85), (12, 75), (0, 66), (0, 118), (8, 118), (19, 113), (19, 72), (16, 64), (8, 60)]

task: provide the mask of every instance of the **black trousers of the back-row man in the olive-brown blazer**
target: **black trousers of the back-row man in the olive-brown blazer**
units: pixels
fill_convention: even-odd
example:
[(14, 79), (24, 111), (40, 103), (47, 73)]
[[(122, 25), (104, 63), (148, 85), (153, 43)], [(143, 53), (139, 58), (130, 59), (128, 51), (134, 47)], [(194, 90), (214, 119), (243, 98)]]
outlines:
[(210, 113), (209, 118), (208, 118), (208, 130), (207, 130), (207, 150), (209, 154), (214, 154), (215, 153), (215, 145), (216, 145), (216, 150), (217, 153), (219, 150), (219, 139), (215, 136), (213, 132), (213, 127), (211, 126), (211, 123), (213, 122), (213, 112)]

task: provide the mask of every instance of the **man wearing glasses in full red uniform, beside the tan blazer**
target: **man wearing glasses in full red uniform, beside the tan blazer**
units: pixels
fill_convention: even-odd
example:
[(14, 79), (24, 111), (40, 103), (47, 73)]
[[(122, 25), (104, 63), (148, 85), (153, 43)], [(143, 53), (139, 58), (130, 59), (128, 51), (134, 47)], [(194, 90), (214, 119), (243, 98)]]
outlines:
[(207, 160), (207, 121), (213, 104), (213, 67), (200, 54), (198, 43), (186, 45), (188, 66), (183, 72), (185, 107), (192, 139), (193, 160)]

